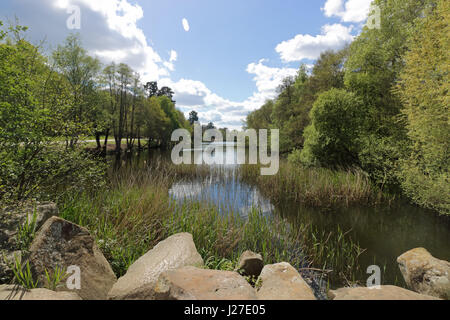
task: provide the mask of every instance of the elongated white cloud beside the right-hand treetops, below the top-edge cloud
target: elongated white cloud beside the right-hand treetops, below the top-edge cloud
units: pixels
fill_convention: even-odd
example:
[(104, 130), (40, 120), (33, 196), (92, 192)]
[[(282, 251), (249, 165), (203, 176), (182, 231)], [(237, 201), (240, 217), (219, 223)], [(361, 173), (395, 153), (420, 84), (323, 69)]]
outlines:
[(338, 50), (353, 41), (352, 26), (325, 25), (317, 36), (298, 34), (293, 39), (278, 44), (276, 51), (284, 62), (315, 60), (325, 50)]

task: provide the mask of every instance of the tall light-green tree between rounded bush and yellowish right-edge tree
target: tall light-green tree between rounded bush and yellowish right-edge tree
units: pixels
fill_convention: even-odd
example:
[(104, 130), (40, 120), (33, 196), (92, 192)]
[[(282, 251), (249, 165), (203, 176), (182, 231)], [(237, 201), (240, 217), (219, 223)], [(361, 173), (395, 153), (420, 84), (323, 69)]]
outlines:
[(392, 88), (404, 67), (405, 39), (434, 0), (375, 0), (383, 17), (381, 28), (365, 27), (349, 48), (344, 82), (363, 101), (359, 160), (379, 185), (396, 188), (398, 160), (408, 144), (399, 117), (402, 102)]

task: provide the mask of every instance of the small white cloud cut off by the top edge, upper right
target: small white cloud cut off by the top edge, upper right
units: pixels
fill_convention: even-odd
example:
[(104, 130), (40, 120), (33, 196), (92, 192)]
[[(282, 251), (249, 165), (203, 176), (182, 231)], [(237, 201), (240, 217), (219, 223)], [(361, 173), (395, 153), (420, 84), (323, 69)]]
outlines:
[(327, 0), (322, 11), (327, 17), (339, 17), (342, 22), (363, 22), (367, 19), (372, 0)]

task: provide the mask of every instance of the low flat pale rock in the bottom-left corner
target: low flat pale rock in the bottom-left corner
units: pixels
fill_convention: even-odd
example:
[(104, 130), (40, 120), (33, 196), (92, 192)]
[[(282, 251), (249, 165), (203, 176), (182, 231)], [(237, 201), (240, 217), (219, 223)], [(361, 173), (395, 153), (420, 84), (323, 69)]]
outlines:
[(55, 292), (47, 289), (25, 290), (17, 286), (0, 286), (0, 300), (81, 300), (74, 292)]

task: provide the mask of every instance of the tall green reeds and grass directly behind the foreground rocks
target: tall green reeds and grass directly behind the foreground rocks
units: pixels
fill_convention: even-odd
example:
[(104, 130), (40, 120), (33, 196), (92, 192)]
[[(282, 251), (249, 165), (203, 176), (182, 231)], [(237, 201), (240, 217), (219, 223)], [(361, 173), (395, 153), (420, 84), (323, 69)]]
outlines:
[(235, 212), (219, 212), (207, 202), (178, 205), (169, 198), (175, 180), (206, 174), (205, 168), (171, 165), (124, 170), (105, 190), (66, 198), (62, 217), (95, 235), (118, 276), (159, 241), (189, 232), (211, 269), (232, 270), (240, 254), (252, 250), (261, 253), (266, 264), (287, 261), (305, 272), (324, 269), (319, 274), (328, 274), (333, 282), (354, 278), (362, 250), (341, 230), (327, 234), (265, 217), (257, 208), (244, 219)]

